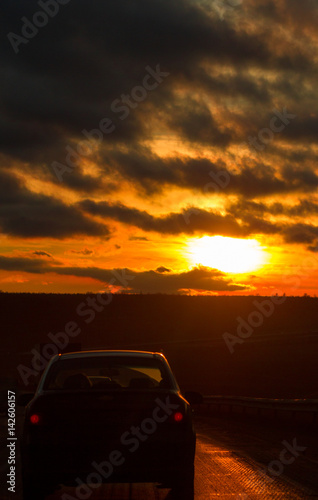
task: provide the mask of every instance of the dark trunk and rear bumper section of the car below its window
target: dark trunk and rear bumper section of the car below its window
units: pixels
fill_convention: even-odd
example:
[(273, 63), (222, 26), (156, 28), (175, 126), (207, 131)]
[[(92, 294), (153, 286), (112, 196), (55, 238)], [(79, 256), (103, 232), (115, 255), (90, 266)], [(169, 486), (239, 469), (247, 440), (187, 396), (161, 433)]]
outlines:
[(182, 454), (187, 419), (176, 422), (176, 411), (185, 414), (185, 403), (171, 391), (55, 392), (30, 408), (29, 417), (36, 414), (40, 420), (29, 424), (29, 443), (38, 456), (49, 456), (65, 471), (87, 470), (114, 450), (130, 467), (147, 466), (145, 457), (153, 465), (169, 460), (173, 443)]

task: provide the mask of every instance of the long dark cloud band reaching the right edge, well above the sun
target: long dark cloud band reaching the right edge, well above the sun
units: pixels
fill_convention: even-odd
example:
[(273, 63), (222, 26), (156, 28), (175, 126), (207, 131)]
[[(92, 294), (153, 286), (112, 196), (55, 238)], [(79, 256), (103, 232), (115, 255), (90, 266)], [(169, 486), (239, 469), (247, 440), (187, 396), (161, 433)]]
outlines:
[[(246, 159), (234, 172), (224, 161), (208, 158), (161, 158), (147, 148), (108, 151), (103, 160), (106, 174), (120, 173), (149, 195), (177, 186), (203, 194), (238, 194), (248, 198), (281, 193), (315, 191), (316, 174), (297, 169), (277, 169), (263, 161)], [(292, 175), (291, 175), (292, 172)]]

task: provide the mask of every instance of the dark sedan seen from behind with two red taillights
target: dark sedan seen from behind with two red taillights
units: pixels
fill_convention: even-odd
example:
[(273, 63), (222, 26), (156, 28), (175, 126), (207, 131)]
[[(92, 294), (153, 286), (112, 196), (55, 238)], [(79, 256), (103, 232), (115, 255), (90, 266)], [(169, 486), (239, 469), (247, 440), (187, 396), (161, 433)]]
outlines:
[(108, 482), (160, 483), (175, 498), (193, 499), (192, 408), (163, 354), (55, 355), (27, 401), (24, 500), (44, 500), (60, 485), (88, 498)]

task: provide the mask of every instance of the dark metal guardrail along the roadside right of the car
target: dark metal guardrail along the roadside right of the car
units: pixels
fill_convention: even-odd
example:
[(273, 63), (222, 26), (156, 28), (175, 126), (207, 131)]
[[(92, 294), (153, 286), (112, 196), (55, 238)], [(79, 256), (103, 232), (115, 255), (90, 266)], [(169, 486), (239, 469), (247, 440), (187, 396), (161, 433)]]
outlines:
[(232, 414), (297, 423), (318, 423), (318, 399), (269, 399), (243, 396), (204, 396), (198, 413)]

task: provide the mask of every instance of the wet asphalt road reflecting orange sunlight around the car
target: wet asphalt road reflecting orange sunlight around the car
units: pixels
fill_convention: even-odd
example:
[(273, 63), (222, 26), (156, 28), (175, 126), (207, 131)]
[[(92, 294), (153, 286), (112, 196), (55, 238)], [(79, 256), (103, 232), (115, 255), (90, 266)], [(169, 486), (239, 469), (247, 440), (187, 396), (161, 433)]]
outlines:
[[(20, 475), (16, 493), (7, 491), (6, 418), (1, 427), (1, 500), (22, 500)], [(261, 428), (246, 422), (196, 418), (197, 453), (195, 500), (210, 499), (313, 499), (318, 498), (318, 457), (316, 443), (306, 433), (296, 436), (292, 429)], [(304, 451), (281, 453), (285, 443), (297, 440)], [(279, 465), (279, 457), (289, 464)], [(274, 465), (273, 465), (274, 464)], [(272, 468), (271, 468), (272, 466)], [(275, 474), (272, 474), (272, 472)], [(61, 500), (63, 493), (76, 498), (74, 488), (63, 488), (47, 500)], [(153, 484), (114, 484), (95, 490), (90, 500), (169, 500), (167, 489)]]

